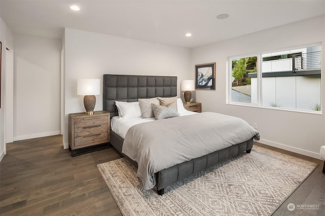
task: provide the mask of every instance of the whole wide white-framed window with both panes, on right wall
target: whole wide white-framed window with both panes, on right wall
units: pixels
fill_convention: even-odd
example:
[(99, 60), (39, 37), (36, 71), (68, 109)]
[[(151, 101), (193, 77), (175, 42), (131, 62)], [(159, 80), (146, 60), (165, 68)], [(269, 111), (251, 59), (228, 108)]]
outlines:
[(230, 58), (230, 62), (230, 103), (321, 111), (321, 46)]

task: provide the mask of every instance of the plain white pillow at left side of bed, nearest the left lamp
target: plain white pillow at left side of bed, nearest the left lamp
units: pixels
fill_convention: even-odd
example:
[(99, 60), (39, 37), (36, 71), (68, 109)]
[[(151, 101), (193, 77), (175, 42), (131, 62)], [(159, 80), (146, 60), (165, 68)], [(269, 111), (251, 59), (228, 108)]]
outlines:
[(115, 101), (120, 118), (142, 117), (140, 104), (136, 102)]

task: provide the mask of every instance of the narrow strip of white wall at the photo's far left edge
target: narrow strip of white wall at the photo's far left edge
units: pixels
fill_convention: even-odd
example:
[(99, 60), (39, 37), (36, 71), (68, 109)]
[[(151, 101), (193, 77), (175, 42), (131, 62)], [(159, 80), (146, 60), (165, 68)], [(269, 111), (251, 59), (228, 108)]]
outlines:
[[(1, 15), (0, 15), (1, 16)], [(13, 34), (6, 23), (0, 18), (0, 41), (2, 42), (1, 64), (1, 107), (0, 107), (0, 161), (5, 156), (5, 80), (6, 80), (6, 43), (13, 45)]]

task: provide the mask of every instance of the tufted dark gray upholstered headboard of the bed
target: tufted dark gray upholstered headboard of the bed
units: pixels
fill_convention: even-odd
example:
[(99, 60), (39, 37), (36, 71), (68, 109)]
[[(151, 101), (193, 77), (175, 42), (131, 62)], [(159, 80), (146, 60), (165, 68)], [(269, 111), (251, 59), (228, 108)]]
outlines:
[(177, 76), (104, 74), (103, 96), (103, 108), (113, 117), (118, 115), (115, 101), (177, 96)]

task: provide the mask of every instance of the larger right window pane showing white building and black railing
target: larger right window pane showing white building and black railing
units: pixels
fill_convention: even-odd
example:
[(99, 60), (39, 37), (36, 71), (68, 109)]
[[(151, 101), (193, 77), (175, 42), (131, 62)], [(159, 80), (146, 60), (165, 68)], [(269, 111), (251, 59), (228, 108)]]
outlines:
[[(321, 47), (283, 51), (262, 59), (262, 105), (320, 111)], [(263, 56), (263, 55), (262, 55)]]

